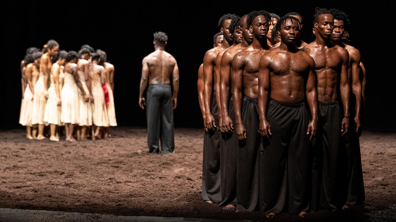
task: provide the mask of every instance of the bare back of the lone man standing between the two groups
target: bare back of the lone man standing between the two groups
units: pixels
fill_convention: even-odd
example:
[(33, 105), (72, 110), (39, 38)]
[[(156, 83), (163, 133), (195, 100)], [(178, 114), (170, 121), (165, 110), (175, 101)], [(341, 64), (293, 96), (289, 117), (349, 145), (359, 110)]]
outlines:
[(143, 59), (149, 71), (149, 84), (170, 84), (170, 76), (175, 68), (176, 60), (163, 50), (150, 53)]

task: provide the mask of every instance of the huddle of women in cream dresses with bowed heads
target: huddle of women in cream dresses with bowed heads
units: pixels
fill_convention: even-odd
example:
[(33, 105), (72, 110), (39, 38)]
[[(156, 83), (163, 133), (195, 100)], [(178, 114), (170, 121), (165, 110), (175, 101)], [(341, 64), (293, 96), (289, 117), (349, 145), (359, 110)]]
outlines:
[[(114, 66), (107, 55), (89, 45), (78, 51), (59, 51), (49, 40), (40, 52), (27, 49), (21, 61), (22, 103), (19, 123), (28, 139), (45, 139), (50, 126), (52, 141), (59, 141), (58, 126), (65, 126), (66, 140), (108, 137), (116, 126), (114, 110)], [(76, 130), (74, 130), (76, 129)]]

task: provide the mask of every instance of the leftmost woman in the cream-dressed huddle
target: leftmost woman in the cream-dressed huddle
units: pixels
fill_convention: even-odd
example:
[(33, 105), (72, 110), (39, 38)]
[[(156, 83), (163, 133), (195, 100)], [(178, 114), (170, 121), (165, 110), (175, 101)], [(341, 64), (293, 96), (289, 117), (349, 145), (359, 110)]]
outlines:
[[(33, 58), (31, 59), (33, 60)], [(33, 93), (34, 93), (34, 85), (38, 80), (39, 68), (40, 68), (40, 56), (38, 59), (34, 60), (34, 62), (29, 61), (25, 68), (25, 76), (27, 85), (25, 88), (25, 93), (23, 95), (23, 103), (21, 105), (21, 115), (19, 117), (19, 123), (22, 126), (26, 126), (26, 138), (34, 139), (36, 134), (32, 136), (32, 109), (33, 109)], [(27, 62), (28, 63), (28, 62)]]

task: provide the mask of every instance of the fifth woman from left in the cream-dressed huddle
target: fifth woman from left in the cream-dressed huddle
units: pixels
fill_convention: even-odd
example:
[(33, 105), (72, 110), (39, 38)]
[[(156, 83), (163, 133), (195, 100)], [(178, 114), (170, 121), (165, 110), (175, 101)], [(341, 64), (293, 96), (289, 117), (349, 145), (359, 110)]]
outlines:
[[(91, 63), (88, 61), (91, 58), (91, 51), (88, 48), (82, 48), (78, 52), (80, 59), (77, 62), (77, 72), (79, 75), (80, 82), (85, 90), (83, 94), (81, 90), (78, 90), (79, 98), (79, 110), (80, 110), (80, 121), (78, 123), (78, 128), (76, 130), (77, 140), (86, 140), (87, 127), (92, 126), (92, 107), (93, 103), (92, 96), (92, 83), (91, 76), (89, 75), (89, 66)], [(89, 95), (88, 102), (85, 101), (84, 95)]]

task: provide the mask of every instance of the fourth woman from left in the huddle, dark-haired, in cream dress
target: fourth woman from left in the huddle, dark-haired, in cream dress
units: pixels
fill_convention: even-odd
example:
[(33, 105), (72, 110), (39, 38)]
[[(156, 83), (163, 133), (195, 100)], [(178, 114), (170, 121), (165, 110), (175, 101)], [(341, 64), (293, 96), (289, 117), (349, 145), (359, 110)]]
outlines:
[[(75, 53), (75, 55), (74, 55)], [(76, 68), (78, 55), (76, 52), (69, 52), (67, 63), (63, 70), (63, 88), (61, 92), (62, 112), (61, 122), (65, 123), (66, 140), (75, 141), (72, 137), (74, 124), (78, 124), (80, 119), (78, 87), (74, 76), (71, 74)]]

